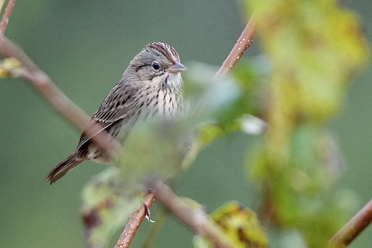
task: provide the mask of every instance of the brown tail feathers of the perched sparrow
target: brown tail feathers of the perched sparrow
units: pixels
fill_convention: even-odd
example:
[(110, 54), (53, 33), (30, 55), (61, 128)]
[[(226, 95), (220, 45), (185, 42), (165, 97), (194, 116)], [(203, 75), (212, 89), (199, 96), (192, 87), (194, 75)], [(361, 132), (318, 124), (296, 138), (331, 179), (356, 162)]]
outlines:
[(54, 167), (48, 173), (45, 179), (47, 179), (50, 182), (50, 184), (52, 184), (83, 161), (84, 158), (81, 158), (80, 152), (74, 151), (73, 154), (68, 156), (65, 160), (63, 160), (56, 167)]

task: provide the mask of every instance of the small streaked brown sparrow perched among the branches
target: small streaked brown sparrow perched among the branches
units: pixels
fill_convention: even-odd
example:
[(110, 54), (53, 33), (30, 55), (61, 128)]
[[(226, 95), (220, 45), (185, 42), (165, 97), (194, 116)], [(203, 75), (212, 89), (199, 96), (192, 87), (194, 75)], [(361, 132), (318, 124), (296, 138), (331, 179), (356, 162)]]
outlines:
[(50, 184), (83, 161), (107, 163), (112, 158), (92, 137), (103, 130), (123, 142), (131, 128), (148, 116), (174, 117), (183, 109), (182, 77), (186, 67), (165, 43), (145, 46), (129, 62), (121, 80), (110, 90), (80, 136), (76, 151), (45, 177)]

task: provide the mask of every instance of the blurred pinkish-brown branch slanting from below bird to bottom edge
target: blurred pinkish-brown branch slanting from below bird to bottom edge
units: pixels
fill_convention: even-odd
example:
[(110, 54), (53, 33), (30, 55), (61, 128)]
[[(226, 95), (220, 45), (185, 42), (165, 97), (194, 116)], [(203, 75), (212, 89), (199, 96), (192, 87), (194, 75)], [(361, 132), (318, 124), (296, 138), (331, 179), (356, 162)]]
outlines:
[(208, 219), (208, 215), (202, 209), (191, 209), (162, 181), (153, 181), (149, 186), (166, 209), (182, 220), (183, 223), (190, 226), (197, 234), (208, 237), (215, 247), (234, 247), (225, 233), (222, 232), (216, 223)]

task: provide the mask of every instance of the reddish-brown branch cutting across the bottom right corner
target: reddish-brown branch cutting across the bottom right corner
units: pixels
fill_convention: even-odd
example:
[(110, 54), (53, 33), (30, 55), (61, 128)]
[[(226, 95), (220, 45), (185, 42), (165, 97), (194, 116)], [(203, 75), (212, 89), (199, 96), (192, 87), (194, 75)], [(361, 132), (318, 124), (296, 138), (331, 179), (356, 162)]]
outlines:
[(347, 222), (331, 239), (330, 243), (346, 247), (372, 221), (372, 200), (370, 200), (349, 222)]

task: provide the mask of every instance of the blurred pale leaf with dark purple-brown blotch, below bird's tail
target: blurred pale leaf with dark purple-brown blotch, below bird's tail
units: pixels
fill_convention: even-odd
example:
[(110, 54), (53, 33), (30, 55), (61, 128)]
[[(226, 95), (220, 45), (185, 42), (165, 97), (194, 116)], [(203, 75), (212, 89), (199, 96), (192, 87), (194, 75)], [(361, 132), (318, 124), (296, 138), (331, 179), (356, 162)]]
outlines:
[(83, 190), (82, 218), (87, 245), (109, 247), (112, 235), (125, 226), (140, 202), (125, 195), (118, 170), (109, 168), (93, 177)]

